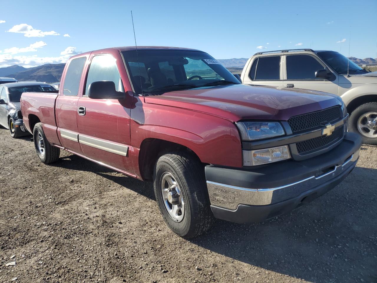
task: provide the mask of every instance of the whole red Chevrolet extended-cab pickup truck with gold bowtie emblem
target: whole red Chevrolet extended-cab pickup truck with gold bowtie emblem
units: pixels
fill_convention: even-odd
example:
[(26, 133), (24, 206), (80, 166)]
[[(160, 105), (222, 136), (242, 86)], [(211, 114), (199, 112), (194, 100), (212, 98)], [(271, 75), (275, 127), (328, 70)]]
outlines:
[(214, 217), (262, 221), (312, 201), (348, 175), (361, 145), (336, 95), (242, 85), (185, 48), (75, 55), (58, 94), (26, 92), (21, 111), (43, 163), (64, 149), (153, 181), (164, 220), (186, 238)]

